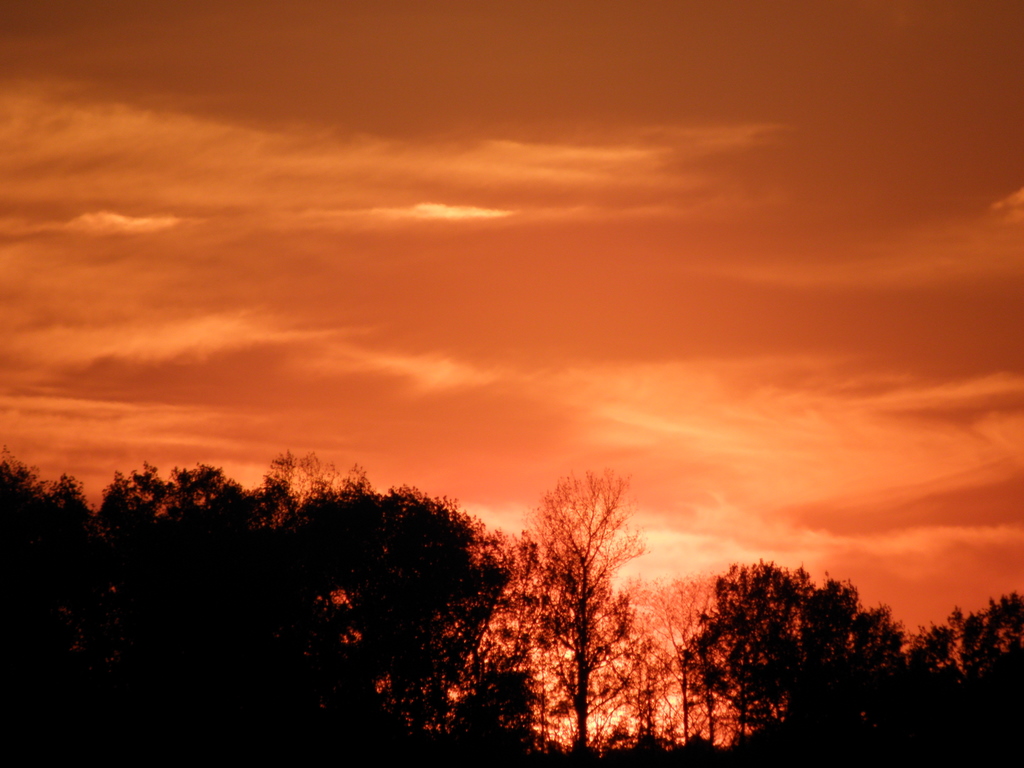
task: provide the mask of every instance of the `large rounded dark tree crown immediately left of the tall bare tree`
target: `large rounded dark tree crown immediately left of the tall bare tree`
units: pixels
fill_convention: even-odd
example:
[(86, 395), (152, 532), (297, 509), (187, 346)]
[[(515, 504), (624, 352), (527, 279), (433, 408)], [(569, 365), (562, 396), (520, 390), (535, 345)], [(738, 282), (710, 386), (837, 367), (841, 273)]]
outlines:
[[(315, 553), (310, 653), (325, 673), (324, 706), (376, 711), (401, 735), (456, 735), (459, 702), (476, 692), (470, 662), (507, 578), (482, 529), (409, 488), (352, 486), (308, 515), (300, 536)], [(327, 550), (329, 541), (339, 546)]]

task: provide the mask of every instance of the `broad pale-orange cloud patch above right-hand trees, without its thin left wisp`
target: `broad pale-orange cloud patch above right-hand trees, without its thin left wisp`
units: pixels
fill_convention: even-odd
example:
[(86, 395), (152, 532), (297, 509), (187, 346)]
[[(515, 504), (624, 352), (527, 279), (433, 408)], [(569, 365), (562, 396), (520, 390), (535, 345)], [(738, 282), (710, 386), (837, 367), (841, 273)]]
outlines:
[[(656, 456), (691, 473), (694, 493), (719, 488), (751, 509), (955, 487), (976, 482), (971, 472), (1024, 466), (1024, 378), (851, 387), (822, 360), (819, 385), (787, 385), (794, 365), (600, 367), (561, 372), (544, 386), (579, 414), (587, 442)], [(978, 416), (942, 416), (971, 408)], [(721, 503), (711, 506), (718, 514)]]

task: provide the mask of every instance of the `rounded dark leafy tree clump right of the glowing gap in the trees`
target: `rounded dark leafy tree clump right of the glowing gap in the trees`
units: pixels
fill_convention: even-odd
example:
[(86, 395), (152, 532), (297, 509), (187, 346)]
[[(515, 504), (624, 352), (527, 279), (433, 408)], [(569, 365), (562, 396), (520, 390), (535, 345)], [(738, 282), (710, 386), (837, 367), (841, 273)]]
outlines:
[(902, 666), (902, 631), (865, 610), (850, 584), (816, 588), (802, 568), (733, 565), (716, 583), (699, 644), (716, 659), (706, 685), (726, 701), (742, 742), (757, 731), (853, 738), (870, 729)]

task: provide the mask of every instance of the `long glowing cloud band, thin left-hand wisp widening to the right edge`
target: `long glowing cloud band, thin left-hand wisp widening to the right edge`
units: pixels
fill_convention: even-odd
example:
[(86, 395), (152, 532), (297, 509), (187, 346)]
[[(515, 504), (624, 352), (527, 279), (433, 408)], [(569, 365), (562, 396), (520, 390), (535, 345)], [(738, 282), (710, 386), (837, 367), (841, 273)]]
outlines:
[[(571, 425), (567, 450), (673, 476), (673, 505), (708, 515), (716, 529), (729, 509), (746, 519), (799, 505), (880, 507), (1024, 468), (1024, 378), (1009, 374), (851, 378), (824, 358), (524, 370), (350, 341), (317, 349), (304, 365), (318, 376), (369, 373), (420, 395), (531, 399)], [(762, 546), (770, 538), (749, 520), (732, 527)]]

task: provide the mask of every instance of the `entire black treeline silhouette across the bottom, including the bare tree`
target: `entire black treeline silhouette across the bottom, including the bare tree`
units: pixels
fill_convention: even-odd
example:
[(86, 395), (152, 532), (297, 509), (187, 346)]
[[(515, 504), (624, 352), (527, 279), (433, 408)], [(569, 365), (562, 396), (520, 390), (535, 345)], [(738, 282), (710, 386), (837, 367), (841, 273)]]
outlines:
[(771, 563), (620, 589), (625, 489), (566, 478), (511, 538), (313, 457), (254, 489), (146, 466), (91, 508), (4, 453), (7, 709), (99, 742), (542, 763), (1016, 748), (1019, 594), (907, 634)]

